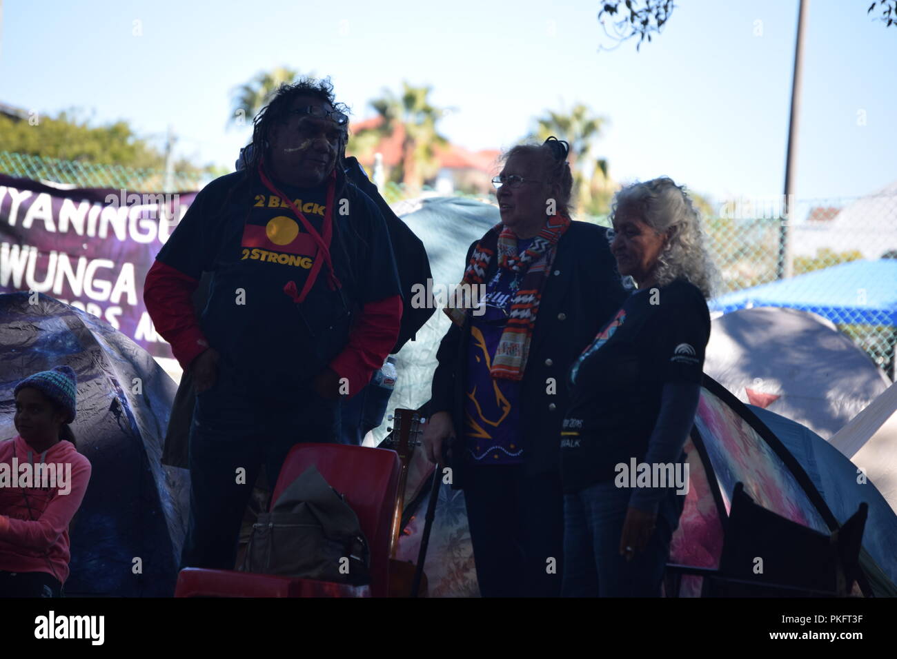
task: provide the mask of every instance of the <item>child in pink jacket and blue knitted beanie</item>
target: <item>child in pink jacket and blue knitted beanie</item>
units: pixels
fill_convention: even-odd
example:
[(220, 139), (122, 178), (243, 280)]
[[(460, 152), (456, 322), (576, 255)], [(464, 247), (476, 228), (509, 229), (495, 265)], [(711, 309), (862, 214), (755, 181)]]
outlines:
[(76, 378), (67, 366), (15, 387), (15, 429), (0, 442), (0, 597), (59, 597), (68, 578), (68, 526), (91, 463), (74, 447)]

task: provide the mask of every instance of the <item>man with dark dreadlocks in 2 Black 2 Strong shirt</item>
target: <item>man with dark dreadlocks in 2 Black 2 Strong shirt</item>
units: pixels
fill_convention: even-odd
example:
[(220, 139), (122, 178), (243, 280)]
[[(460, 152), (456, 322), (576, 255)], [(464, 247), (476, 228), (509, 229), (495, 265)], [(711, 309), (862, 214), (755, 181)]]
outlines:
[(341, 395), (396, 343), (396, 261), (377, 205), (338, 162), (344, 110), (327, 79), (282, 85), (247, 167), (196, 195), (147, 274), (153, 324), (196, 384), (183, 566), (234, 567), (261, 464), (273, 485), (292, 445), (334, 441)]

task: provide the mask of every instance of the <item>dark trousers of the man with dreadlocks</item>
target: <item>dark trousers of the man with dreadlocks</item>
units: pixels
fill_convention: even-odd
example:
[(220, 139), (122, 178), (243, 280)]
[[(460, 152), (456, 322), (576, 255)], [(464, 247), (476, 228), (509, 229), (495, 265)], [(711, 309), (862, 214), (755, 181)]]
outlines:
[(262, 464), (273, 491), (293, 445), (336, 439), (337, 403), (309, 391), (289, 405), (266, 406), (249, 386), (220, 361), (213, 387), (196, 395), (181, 568), (233, 569), (243, 512)]

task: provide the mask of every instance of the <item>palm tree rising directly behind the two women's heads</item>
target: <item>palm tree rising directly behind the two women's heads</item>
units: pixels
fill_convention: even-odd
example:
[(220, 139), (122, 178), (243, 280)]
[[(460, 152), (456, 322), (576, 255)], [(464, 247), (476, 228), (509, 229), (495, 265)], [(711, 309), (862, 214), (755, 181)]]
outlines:
[(612, 187), (607, 160), (592, 156), (605, 122), (605, 117), (596, 117), (588, 106), (577, 103), (569, 114), (548, 110), (547, 115), (536, 119), (536, 131), (530, 135), (540, 142), (554, 135), (570, 143), (570, 169), (578, 212), (607, 212)]

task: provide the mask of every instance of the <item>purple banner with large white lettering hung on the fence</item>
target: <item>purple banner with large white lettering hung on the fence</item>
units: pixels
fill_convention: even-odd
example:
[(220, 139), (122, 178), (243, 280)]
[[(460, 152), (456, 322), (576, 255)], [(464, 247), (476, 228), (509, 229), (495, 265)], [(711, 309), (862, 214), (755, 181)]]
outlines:
[(196, 192), (60, 189), (0, 174), (0, 293), (44, 293), (99, 317), (154, 357), (169, 344), (144, 280)]

